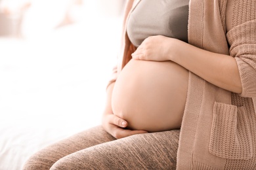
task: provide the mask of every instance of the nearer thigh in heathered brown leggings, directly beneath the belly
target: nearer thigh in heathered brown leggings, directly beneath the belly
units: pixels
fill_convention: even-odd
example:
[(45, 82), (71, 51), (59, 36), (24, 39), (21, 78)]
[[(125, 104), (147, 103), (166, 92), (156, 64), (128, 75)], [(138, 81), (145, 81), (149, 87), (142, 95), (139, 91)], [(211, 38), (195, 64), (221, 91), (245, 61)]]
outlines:
[(176, 169), (179, 130), (132, 135), (66, 156), (51, 169)]

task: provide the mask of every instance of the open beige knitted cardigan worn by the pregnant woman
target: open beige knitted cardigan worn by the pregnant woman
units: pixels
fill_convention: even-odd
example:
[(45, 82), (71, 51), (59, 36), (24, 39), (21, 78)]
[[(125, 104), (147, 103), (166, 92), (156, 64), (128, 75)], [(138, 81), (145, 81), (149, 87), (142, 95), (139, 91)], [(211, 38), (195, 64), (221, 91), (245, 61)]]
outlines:
[[(127, 2), (125, 18), (138, 2)], [(228, 92), (189, 73), (177, 169), (256, 169), (256, 1), (190, 0), (189, 9), (188, 42), (233, 56), (242, 93)], [(123, 29), (121, 54), (110, 82), (134, 50)]]

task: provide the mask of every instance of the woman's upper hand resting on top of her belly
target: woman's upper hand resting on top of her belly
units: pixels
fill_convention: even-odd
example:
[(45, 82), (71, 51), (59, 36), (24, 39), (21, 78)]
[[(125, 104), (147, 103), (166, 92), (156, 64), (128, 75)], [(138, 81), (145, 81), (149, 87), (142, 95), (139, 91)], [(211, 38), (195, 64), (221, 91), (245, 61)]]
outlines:
[(133, 59), (150, 61), (170, 60), (172, 39), (162, 35), (146, 38), (132, 54)]

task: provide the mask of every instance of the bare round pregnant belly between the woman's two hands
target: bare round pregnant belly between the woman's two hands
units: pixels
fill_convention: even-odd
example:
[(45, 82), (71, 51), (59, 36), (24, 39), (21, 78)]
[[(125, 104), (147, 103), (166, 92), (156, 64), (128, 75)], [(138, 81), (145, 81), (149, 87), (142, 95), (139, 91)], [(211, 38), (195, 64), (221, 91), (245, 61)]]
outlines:
[(187, 90), (188, 71), (177, 63), (131, 59), (116, 80), (112, 109), (130, 129), (177, 129)]

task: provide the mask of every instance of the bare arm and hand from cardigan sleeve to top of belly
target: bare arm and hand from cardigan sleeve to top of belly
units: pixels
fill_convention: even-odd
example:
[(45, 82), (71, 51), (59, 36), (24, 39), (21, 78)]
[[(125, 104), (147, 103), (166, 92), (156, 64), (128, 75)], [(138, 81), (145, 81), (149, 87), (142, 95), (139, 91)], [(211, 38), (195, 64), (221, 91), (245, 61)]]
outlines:
[(202, 50), (161, 35), (146, 39), (132, 56), (135, 59), (174, 61), (215, 86), (242, 93), (238, 66), (231, 56)]

